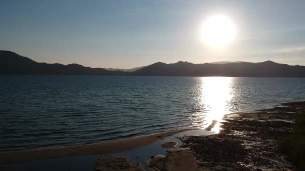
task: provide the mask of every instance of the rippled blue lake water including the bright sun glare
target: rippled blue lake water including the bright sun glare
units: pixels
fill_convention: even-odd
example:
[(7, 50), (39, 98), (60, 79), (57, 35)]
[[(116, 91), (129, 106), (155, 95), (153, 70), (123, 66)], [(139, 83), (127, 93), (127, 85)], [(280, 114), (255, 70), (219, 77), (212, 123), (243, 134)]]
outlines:
[(205, 128), (231, 112), (304, 100), (305, 78), (2, 75), (0, 95), (8, 151)]

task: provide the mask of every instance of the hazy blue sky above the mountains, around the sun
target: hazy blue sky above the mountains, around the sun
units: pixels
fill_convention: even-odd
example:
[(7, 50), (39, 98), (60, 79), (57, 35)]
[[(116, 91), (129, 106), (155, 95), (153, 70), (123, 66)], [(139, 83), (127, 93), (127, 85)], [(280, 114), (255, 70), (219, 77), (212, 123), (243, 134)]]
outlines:
[[(163, 61), (265, 61), (305, 65), (305, 0), (0, 0), (0, 49), (36, 61), (131, 68)], [(233, 42), (200, 38), (215, 14)]]

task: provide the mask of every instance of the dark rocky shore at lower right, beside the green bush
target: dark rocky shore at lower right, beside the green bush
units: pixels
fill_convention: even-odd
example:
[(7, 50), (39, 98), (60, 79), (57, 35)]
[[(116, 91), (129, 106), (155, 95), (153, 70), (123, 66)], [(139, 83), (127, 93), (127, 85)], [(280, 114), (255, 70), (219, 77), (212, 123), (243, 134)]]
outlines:
[(291, 134), (293, 118), (300, 113), (305, 113), (305, 102), (227, 115), (218, 134), (179, 137), (183, 144), (165, 156), (152, 156), (149, 170), (292, 170), (277, 141)]

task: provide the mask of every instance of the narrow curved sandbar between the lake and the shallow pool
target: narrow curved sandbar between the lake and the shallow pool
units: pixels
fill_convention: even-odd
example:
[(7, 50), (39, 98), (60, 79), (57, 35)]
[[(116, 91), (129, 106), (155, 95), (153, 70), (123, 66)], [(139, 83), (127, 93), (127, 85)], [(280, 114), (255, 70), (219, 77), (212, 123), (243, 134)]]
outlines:
[(50, 159), (66, 156), (77, 155), (92, 155), (92, 154), (108, 154), (115, 152), (122, 152), (131, 149), (140, 148), (152, 144), (158, 140), (162, 140), (167, 136), (172, 136), (176, 133), (185, 132), (189, 130), (196, 130), (199, 128), (181, 128), (176, 130), (169, 130), (148, 135), (141, 135), (127, 139), (108, 140), (90, 144), (62, 146), (55, 148), (42, 149), (26, 149), (0, 152), (0, 164), (12, 164), (19, 162), (26, 162), (32, 160)]

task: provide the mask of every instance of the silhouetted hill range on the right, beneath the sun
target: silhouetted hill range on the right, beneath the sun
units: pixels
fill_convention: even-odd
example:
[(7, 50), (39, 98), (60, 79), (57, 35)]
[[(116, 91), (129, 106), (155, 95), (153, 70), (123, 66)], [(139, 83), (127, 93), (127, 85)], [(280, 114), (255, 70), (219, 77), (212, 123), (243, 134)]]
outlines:
[(159, 76), (242, 76), (242, 77), (305, 77), (305, 66), (264, 61), (233, 62), (224, 64), (194, 64), (179, 61), (166, 64), (157, 62), (136, 70), (135, 75)]

